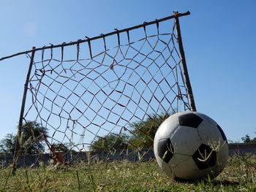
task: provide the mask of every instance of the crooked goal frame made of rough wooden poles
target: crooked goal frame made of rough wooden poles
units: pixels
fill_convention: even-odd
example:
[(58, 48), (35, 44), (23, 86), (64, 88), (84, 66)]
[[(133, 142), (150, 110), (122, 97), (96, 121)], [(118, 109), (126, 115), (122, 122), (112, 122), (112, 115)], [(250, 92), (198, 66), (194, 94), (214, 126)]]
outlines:
[(149, 25), (152, 25), (152, 24), (157, 24), (158, 25), (159, 22), (162, 22), (164, 20), (175, 19), (177, 39), (178, 39), (178, 49), (179, 49), (179, 52), (181, 54), (181, 64), (183, 66), (184, 79), (185, 79), (185, 83), (186, 83), (186, 86), (187, 86), (187, 92), (188, 92), (190, 107), (191, 107), (191, 110), (195, 112), (196, 111), (195, 99), (194, 99), (193, 92), (192, 92), (192, 86), (191, 86), (191, 83), (190, 83), (190, 80), (189, 80), (189, 72), (188, 72), (188, 69), (187, 69), (187, 62), (186, 62), (186, 58), (185, 58), (184, 47), (183, 47), (183, 42), (182, 42), (182, 37), (181, 37), (181, 28), (180, 28), (180, 23), (179, 23), (179, 18), (180, 17), (185, 16), (185, 15), (189, 15), (189, 14), (190, 14), (190, 12), (184, 12), (184, 13), (174, 12), (174, 15), (171, 15), (171, 16), (166, 17), (166, 18), (162, 18), (162, 19), (159, 19), (159, 20), (154, 20), (154, 21), (151, 21), (151, 22), (144, 22), (141, 25), (133, 26), (131, 28), (124, 28), (122, 30), (117, 30), (116, 29), (113, 32), (110, 32), (108, 34), (101, 34), (100, 36), (97, 36), (97, 37), (92, 37), (92, 38), (86, 37), (86, 39), (79, 39), (78, 41), (75, 41), (75, 42), (63, 43), (63, 44), (60, 44), (60, 45), (50, 45), (50, 46), (47, 46), (47, 47), (39, 47), (39, 48), (33, 47), (31, 50), (27, 50), (27, 51), (24, 51), (24, 52), (20, 52), (20, 53), (16, 53), (16, 54), (13, 54), (13, 55), (9, 55), (7, 57), (0, 58), (0, 61), (2, 61), (4, 59), (12, 58), (12, 57), (15, 57), (17, 55), (24, 55), (24, 54), (31, 53), (31, 56), (29, 56), (30, 57), (29, 70), (28, 70), (27, 75), (26, 75), (26, 82), (25, 82), (24, 90), (23, 90), (23, 99), (22, 99), (22, 104), (21, 104), (21, 108), (20, 108), (20, 117), (19, 117), (19, 122), (18, 122), (18, 138), (17, 138), (16, 144), (15, 144), (15, 153), (14, 153), (14, 156), (13, 156), (13, 163), (12, 163), (12, 174), (15, 174), (15, 170), (17, 169), (18, 156), (20, 155), (19, 154), (20, 142), (21, 142), (20, 139), (21, 139), (22, 126), (23, 126), (23, 115), (24, 115), (24, 110), (25, 110), (25, 107), (26, 107), (26, 95), (27, 95), (27, 91), (29, 89), (29, 87), (28, 87), (29, 77), (31, 75), (31, 69), (32, 69), (32, 66), (33, 66), (33, 63), (34, 63), (34, 55), (39, 50), (53, 49), (53, 48), (56, 48), (56, 47), (63, 48), (63, 47), (67, 47), (67, 46), (70, 46), (70, 45), (79, 45), (80, 43), (88, 42), (89, 52), (90, 52), (90, 55), (91, 55), (91, 41), (92, 40), (105, 38), (105, 37), (108, 37), (108, 36), (112, 36), (113, 34), (119, 35), (123, 32), (131, 31), (131, 30), (136, 29), (136, 28), (145, 28), (146, 26), (149, 26)]

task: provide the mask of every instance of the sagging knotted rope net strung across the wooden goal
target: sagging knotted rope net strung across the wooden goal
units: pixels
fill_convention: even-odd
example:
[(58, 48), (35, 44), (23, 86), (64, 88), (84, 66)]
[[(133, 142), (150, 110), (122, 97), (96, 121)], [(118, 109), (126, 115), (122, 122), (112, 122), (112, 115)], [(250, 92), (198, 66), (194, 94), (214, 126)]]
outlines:
[(146, 157), (162, 120), (190, 110), (175, 20), (36, 51), (28, 88), (23, 121), (61, 162)]

